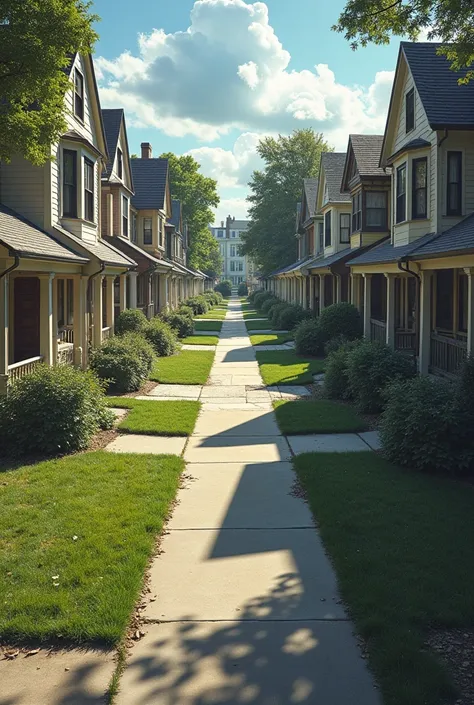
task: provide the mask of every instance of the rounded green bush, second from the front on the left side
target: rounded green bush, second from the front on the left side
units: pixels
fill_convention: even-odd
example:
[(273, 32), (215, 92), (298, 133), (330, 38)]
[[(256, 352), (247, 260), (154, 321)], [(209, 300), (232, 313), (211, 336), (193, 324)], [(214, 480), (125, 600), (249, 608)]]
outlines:
[(127, 333), (106, 340), (92, 351), (90, 366), (118, 394), (136, 392), (148, 378), (155, 353), (141, 335)]

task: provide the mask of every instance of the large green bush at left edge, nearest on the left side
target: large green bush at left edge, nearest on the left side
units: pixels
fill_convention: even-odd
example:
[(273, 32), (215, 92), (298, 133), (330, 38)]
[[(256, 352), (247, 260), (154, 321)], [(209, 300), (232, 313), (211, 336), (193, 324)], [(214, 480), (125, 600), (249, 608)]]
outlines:
[(97, 377), (67, 365), (39, 365), (0, 401), (2, 451), (9, 455), (84, 450), (100, 428), (112, 424)]

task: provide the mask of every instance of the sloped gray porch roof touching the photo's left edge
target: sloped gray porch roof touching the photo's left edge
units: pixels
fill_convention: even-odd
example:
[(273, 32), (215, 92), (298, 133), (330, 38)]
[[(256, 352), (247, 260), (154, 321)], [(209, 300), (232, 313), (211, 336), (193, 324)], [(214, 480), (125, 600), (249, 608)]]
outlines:
[(87, 264), (89, 259), (61, 244), (19, 213), (0, 203), (0, 243), (19, 257)]

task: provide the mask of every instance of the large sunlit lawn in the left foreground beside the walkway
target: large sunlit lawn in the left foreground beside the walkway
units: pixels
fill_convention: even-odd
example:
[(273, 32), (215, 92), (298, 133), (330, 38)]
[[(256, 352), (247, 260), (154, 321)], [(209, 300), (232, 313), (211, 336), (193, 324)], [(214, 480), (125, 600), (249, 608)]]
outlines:
[(99, 451), (3, 473), (0, 638), (117, 643), (183, 467)]

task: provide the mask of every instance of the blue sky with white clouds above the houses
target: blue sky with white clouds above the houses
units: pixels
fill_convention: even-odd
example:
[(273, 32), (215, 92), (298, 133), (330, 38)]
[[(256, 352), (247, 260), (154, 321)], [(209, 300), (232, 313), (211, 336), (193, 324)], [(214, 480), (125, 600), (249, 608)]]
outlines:
[(381, 134), (398, 54), (331, 31), (342, 0), (95, 0), (102, 107), (123, 107), (131, 152), (192, 154), (245, 218), (265, 135), (311, 127), (337, 150)]

